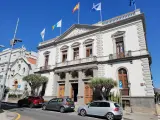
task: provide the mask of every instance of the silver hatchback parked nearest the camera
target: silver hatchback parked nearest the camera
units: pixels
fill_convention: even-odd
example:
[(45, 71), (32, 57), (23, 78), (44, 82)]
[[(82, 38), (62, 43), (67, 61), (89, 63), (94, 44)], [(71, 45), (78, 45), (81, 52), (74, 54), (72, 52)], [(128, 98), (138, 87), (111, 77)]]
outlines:
[(101, 116), (107, 118), (108, 120), (121, 120), (123, 115), (123, 110), (118, 103), (105, 100), (93, 101), (85, 106), (80, 106), (77, 112), (81, 116)]

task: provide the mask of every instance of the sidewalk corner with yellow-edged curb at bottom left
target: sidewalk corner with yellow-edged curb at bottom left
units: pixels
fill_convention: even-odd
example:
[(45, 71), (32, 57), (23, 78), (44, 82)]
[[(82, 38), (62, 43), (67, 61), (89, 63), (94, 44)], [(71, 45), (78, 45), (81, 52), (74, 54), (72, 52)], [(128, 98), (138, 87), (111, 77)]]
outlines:
[(15, 120), (17, 114), (14, 112), (4, 111), (0, 113), (0, 120)]

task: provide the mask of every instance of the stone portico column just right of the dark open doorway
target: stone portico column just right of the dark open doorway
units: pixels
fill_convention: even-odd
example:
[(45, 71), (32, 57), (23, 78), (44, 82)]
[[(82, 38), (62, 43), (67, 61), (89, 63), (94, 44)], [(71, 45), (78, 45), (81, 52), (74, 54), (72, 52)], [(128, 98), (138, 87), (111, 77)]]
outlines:
[(84, 104), (84, 82), (82, 80), (83, 72), (78, 71), (78, 104)]

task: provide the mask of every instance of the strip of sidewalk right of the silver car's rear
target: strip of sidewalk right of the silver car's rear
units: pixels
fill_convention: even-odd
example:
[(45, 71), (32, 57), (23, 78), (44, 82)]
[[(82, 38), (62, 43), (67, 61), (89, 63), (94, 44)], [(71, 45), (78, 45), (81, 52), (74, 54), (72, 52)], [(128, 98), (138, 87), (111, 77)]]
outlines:
[(124, 119), (129, 120), (158, 120), (158, 116), (146, 113), (127, 113), (123, 114)]

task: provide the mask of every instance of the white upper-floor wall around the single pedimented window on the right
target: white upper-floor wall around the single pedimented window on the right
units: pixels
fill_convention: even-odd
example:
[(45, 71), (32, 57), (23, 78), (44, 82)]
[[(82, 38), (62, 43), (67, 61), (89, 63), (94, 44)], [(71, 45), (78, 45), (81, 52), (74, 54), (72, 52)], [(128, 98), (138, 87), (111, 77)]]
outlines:
[[(139, 21), (141, 22), (141, 21)], [(124, 47), (125, 51), (137, 51), (140, 50), (139, 39), (137, 34), (137, 22), (130, 23), (128, 25), (119, 26), (117, 28), (109, 29), (104, 31), (103, 33), (103, 43), (104, 43), (104, 56), (108, 56), (109, 54), (115, 53), (113, 38), (111, 37), (117, 31), (125, 31), (124, 35)]]

